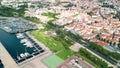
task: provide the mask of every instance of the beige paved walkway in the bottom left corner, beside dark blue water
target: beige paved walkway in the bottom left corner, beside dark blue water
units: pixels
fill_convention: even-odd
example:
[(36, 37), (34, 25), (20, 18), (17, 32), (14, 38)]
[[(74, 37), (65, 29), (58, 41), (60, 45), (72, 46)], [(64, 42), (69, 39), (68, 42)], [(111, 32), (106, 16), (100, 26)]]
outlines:
[(18, 65), (4, 48), (4, 46), (0, 43), (0, 59), (5, 68), (18, 68)]

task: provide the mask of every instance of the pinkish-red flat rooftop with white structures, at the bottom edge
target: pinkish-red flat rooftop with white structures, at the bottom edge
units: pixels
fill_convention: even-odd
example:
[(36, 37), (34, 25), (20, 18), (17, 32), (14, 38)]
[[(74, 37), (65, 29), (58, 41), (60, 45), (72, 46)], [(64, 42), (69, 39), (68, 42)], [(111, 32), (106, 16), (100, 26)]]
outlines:
[(65, 62), (60, 64), (57, 68), (93, 68), (91, 65), (78, 58), (77, 56), (72, 56), (68, 58)]

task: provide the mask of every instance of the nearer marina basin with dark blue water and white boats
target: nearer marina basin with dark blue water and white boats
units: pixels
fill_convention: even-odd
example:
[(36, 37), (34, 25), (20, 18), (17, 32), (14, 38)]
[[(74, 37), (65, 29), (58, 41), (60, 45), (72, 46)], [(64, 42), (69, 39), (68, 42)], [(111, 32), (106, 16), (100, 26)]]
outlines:
[(0, 30), (0, 41), (16, 63), (23, 62), (44, 52), (44, 49), (26, 33), (10, 34)]

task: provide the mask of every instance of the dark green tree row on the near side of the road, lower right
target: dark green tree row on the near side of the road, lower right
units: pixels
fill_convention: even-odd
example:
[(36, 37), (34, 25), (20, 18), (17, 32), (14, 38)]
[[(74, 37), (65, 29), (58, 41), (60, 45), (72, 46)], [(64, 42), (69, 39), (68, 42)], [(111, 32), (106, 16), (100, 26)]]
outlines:
[(96, 56), (92, 55), (90, 52), (88, 52), (86, 49), (81, 48), (79, 51), (79, 54), (88, 58), (90, 61), (92, 61), (94, 64), (96, 64), (99, 68), (108, 68), (108, 64), (97, 58)]

